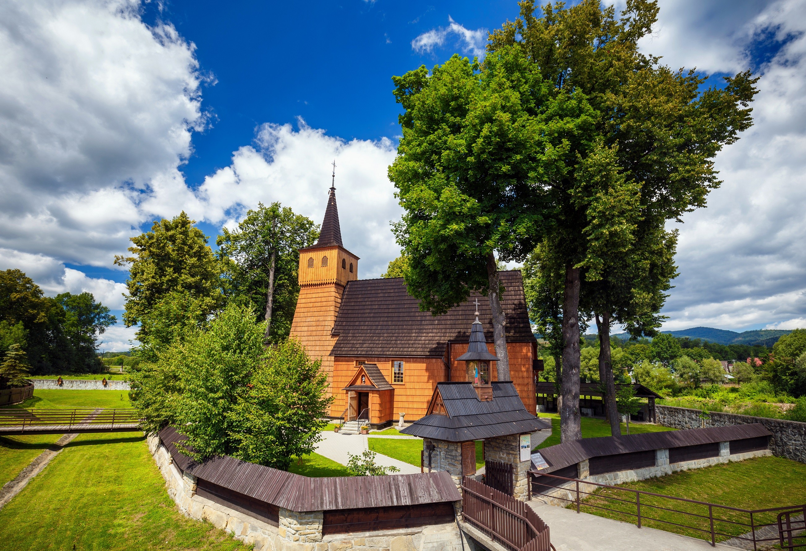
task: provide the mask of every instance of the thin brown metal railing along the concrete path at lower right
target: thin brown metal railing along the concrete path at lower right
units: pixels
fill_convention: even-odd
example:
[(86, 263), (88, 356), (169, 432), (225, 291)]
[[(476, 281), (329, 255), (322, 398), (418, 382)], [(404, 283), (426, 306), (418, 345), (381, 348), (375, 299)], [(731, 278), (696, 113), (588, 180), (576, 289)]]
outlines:
[(607, 511), (605, 516), (632, 519), (638, 528), (651, 525), (709, 540), (712, 546), (733, 540), (753, 549), (775, 543), (782, 549), (806, 547), (801, 537), (806, 505), (749, 510), (530, 471), (530, 495), (546, 491), (578, 513)]

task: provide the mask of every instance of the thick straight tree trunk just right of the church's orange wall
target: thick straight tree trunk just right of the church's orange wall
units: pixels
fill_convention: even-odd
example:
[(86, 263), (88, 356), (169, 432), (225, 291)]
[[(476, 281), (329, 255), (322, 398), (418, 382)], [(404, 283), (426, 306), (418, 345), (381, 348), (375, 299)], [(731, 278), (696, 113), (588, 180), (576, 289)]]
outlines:
[(582, 440), (580, 425), (580, 269), (568, 266), (563, 292), (563, 405), (560, 441)]

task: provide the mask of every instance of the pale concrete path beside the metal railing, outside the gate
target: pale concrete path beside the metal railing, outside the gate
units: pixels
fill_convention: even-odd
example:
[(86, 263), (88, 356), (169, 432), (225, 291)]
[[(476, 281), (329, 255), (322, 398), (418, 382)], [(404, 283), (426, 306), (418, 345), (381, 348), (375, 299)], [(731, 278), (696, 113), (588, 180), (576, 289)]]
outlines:
[[(530, 507), (549, 525), (557, 551), (705, 551), (710, 541), (579, 513), (533, 499)], [(717, 549), (736, 549), (718, 544)]]

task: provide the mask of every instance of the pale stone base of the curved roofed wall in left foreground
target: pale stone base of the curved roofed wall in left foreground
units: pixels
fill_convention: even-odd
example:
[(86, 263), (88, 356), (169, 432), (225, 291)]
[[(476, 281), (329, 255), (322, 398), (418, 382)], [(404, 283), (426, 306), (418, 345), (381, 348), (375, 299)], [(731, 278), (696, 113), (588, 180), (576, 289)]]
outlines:
[(196, 478), (183, 474), (157, 436), (148, 437), (148, 449), (168, 486), (168, 495), (181, 513), (206, 520), (254, 545), (255, 551), (468, 551), (479, 549), (453, 523), (376, 532), (322, 535), (322, 511), (297, 512), (280, 508), (275, 527), (240, 511), (196, 495)]

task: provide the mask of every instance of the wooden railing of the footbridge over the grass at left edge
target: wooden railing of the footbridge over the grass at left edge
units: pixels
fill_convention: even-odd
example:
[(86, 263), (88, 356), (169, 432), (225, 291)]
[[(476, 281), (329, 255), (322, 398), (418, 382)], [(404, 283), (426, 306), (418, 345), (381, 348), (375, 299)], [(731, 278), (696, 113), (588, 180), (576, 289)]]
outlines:
[(104, 409), (77, 407), (74, 409), (2, 409), (0, 434), (5, 432), (84, 432), (134, 430), (140, 423), (135, 408)]

